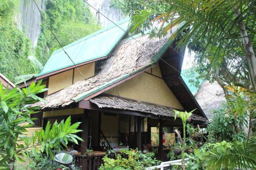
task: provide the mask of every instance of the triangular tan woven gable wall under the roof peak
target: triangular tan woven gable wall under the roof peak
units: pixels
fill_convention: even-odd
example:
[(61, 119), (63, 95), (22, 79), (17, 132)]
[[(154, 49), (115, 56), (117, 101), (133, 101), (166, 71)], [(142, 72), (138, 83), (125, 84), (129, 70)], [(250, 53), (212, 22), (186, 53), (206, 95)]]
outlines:
[[(148, 72), (151, 72), (151, 70), (148, 70)], [(159, 66), (153, 68), (153, 74), (160, 76), (160, 72)], [(183, 109), (182, 105), (163, 79), (145, 72), (106, 91), (106, 93), (176, 109)]]

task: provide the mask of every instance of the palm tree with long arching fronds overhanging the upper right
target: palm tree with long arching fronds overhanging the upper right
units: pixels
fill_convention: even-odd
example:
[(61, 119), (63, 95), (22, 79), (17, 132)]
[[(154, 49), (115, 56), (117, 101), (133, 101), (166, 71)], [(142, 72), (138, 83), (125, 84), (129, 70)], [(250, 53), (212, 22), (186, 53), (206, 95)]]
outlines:
[[(200, 50), (203, 53), (210, 51), (211, 63), (221, 62), (230, 54), (245, 56), (244, 62), (248, 63), (250, 82), (254, 91), (255, 4), (255, 1), (250, 0), (126, 0), (127, 8), (132, 10), (132, 31), (153, 28), (152, 35), (164, 36), (183, 22), (183, 26), (172, 34), (175, 38), (182, 33), (178, 45), (184, 47), (188, 43), (203, 43)], [(158, 31), (154, 29), (154, 22), (161, 23)]]

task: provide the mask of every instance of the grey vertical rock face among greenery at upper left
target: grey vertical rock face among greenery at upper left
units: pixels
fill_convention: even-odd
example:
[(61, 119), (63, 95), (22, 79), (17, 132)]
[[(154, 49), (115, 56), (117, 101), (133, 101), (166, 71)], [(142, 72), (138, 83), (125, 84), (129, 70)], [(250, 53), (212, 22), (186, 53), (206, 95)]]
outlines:
[[(46, 1), (36, 1), (40, 10), (44, 11), (46, 9)], [(16, 22), (18, 29), (26, 33), (35, 47), (41, 31), (41, 16), (33, 0), (20, 0)]]

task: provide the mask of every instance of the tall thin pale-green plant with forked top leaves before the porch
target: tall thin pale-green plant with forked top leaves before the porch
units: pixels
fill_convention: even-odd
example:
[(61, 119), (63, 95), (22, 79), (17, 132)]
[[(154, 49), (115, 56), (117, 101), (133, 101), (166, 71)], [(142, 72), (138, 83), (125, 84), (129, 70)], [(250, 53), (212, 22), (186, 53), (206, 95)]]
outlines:
[[(187, 112), (187, 111), (182, 112), (182, 111), (174, 110), (174, 113), (175, 113), (174, 119), (176, 120), (177, 114), (178, 114), (180, 119), (182, 120), (182, 124), (183, 124), (183, 140), (180, 139), (181, 142), (182, 142), (182, 146), (181, 146), (181, 148), (182, 148), (182, 150), (181, 150), (181, 158), (182, 158), (181, 167), (182, 167), (182, 170), (185, 169), (185, 160), (184, 160), (185, 159), (185, 154), (184, 154), (184, 151), (186, 149), (186, 123), (187, 123), (188, 118), (192, 115), (192, 112), (194, 112), (195, 110), (196, 109), (194, 109), (190, 112)], [(177, 131), (176, 131), (176, 133), (177, 133)], [(179, 135), (179, 133), (177, 133), (177, 134)]]

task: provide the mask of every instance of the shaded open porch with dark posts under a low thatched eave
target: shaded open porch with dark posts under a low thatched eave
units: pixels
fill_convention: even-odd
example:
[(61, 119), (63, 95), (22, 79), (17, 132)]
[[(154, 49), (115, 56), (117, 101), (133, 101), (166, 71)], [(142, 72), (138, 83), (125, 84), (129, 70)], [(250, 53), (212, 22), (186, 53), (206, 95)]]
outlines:
[[(174, 128), (182, 126), (180, 119), (174, 120), (172, 108), (106, 95), (55, 111), (45, 110), (44, 127), (47, 122), (60, 122), (70, 115), (72, 124), (81, 122), (78, 129), (83, 130), (78, 134), (83, 141), (69, 145), (69, 150), (79, 152), (75, 163), (83, 170), (98, 169), (109, 149), (147, 150), (167, 161), (168, 148), (175, 142)], [(203, 123), (203, 117), (191, 117), (194, 124)], [(164, 131), (170, 136), (167, 142), (162, 140)], [(90, 150), (93, 152), (88, 156)]]

